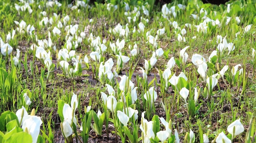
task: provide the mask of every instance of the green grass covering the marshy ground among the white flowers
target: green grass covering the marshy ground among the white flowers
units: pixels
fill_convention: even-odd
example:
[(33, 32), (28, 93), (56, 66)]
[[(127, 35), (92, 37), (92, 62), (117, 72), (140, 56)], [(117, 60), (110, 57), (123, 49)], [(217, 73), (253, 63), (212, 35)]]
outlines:
[[(235, 137), (233, 142), (251, 142), (248, 140), (247, 134), (253, 136), (255, 129), (251, 127), (249, 128), (250, 130), (248, 130), (248, 127), (250, 127), (250, 120), (255, 120), (254, 116), (256, 115), (256, 80), (254, 75), (256, 58), (254, 57), (253, 59), (252, 57), (252, 49), (255, 49), (256, 45), (255, 1), (232, 1), (230, 2), (232, 4), (229, 13), (225, 5), (216, 6), (203, 4), (201, 1), (189, 0), (183, 3), (186, 4), (185, 10), (183, 10), (177, 6), (179, 2), (174, 1), (168, 4), (167, 7), (170, 9), (171, 6), (175, 6), (176, 18), (174, 18), (173, 13), (171, 13), (168, 19), (162, 16), (162, 7), (159, 5), (154, 6), (149, 16), (143, 13), (142, 8), (139, 10), (138, 5), (131, 5), (130, 10), (128, 10), (128, 16), (132, 17), (130, 23), (125, 13), (124, 3), (119, 4), (116, 10), (114, 7), (107, 10), (107, 3), (95, 4), (91, 7), (79, 6), (77, 8), (80, 10), (79, 12), (77, 9), (71, 10), (68, 8), (68, 4), (65, 3), (65, 1), (62, 3), (61, 7), (58, 7), (56, 4), (53, 7), (47, 7), (48, 4), (46, 3), (47, 1), (40, 1), (39, 3), (35, 2), (29, 4), (33, 10), (30, 14), (27, 10), (24, 12), (19, 11), (18, 13), (14, 3), (8, 1), (0, 2), (0, 7), (3, 9), (0, 10), (0, 31), (2, 33), (0, 37), (3, 39), (4, 43), (9, 43), (13, 48), (13, 51), (8, 56), (0, 55), (0, 113), (8, 110), (16, 113), (22, 106), (26, 108), (29, 114), (32, 109), (35, 109), (36, 115), (40, 116), (43, 121), (40, 131), (42, 142), (57, 142), (59, 139), (63, 138), (61, 132), (59, 132), (63, 119), (61, 115), (59, 115), (58, 108), (60, 107), (58, 107), (58, 101), (71, 104), (73, 92), (77, 94), (78, 98), (78, 107), (75, 111), (75, 115), (79, 123), (79, 125), (76, 126), (76, 131), (80, 134), (85, 132), (85, 130), (79, 130), (82, 122), (90, 118), (93, 118), (91, 120), (94, 121), (95, 116), (93, 116), (93, 113), (86, 113), (85, 111), (87, 106), (91, 106), (91, 110), (94, 110), (96, 113), (98, 110), (105, 113), (106, 118), (103, 123), (103, 137), (97, 136), (102, 140), (112, 140), (113, 142), (117, 142), (117, 140), (124, 142), (124, 140), (127, 140), (127, 142), (132, 142), (129, 134), (127, 134), (127, 131), (129, 131), (130, 134), (132, 134), (131, 136), (135, 138), (135, 135), (138, 135), (138, 140), (135, 142), (141, 141), (144, 138), (141, 137), (142, 131), (139, 129), (139, 125), (142, 119), (141, 114), (146, 111), (145, 117), (143, 118), (155, 122), (156, 128), (159, 127), (161, 128), (160, 130), (165, 130), (165, 127), (162, 124), (158, 125), (158, 117), (165, 118), (167, 122), (171, 120), (172, 124), (169, 127), (172, 130), (172, 135), (174, 135), (174, 129), (176, 129), (182, 142), (187, 139), (185, 139), (185, 136), (186, 133), (189, 133), (189, 129), (195, 133), (193, 142), (203, 142), (202, 134), (207, 134), (210, 141), (215, 140), (222, 131), (231, 139), (232, 135), (228, 135), (227, 127), (237, 119), (240, 119), (245, 130)], [(18, 3), (18, 5), (21, 6), (24, 4)], [(41, 9), (38, 9), (39, 5)], [(147, 9), (148, 5), (146, 3), (142, 3), (142, 5)], [(138, 8), (140, 13), (139, 16), (137, 15), (136, 21), (133, 21), (133, 17), (137, 14), (137, 12), (133, 12), (135, 7)], [(194, 25), (200, 25), (200, 23), (204, 21), (204, 13), (200, 15), (201, 8), (206, 10), (206, 17), (214, 21), (218, 19), (220, 25), (212, 25), (212, 22), (209, 22), (205, 25), (207, 26), (206, 33), (198, 32)], [(47, 14), (43, 16), (40, 13), (42, 11), (45, 11)], [(58, 17), (55, 17), (53, 13), (57, 13)], [(191, 14), (197, 14), (199, 20), (195, 20)], [(63, 19), (66, 15), (68, 15), (70, 19), (67, 21), (67, 24), (64, 25)], [(226, 25), (227, 16), (231, 17), (231, 20), (229, 24)], [(236, 22), (236, 16), (239, 16), (241, 20), (239, 24)], [(44, 17), (48, 19), (52, 18), (52, 24), (40, 25), (40, 21)], [(90, 19), (92, 19), (92, 22), (89, 22)], [(146, 19), (148, 22), (146, 22)], [(26, 22), (26, 26), (31, 24), (35, 27), (35, 31), (33, 31), (31, 35), (26, 33), (27, 27), (24, 33), (19, 33), (19, 31), (16, 30), (19, 25), (16, 25), (14, 21), (21, 22), (21, 20)], [(59, 28), (59, 30), (61, 30), (60, 35), (54, 35), (52, 30), (54, 27), (57, 27), (58, 21), (62, 22), (63, 27)], [(173, 27), (171, 23), (174, 21), (177, 22), (180, 30), (183, 28), (186, 29), (186, 34), (184, 35), (186, 42), (178, 42), (177, 37), (178, 34), (180, 34), (180, 30)], [(143, 32), (138, 32), (140, 22), (145, 25)], [(126, 26), (127, 23), (128, 25)], [(65, 49), (67, 45), (66, 38), (68, 39), (68, 37), (66, 37), (66, 35), (68, 32), (65, 30), (65, 26), (75, 24), (78, 24), (76, 30), (77, 36), (80, 37), (82, 31), (86, 34), (82, 42), (78, 43), (76, 49), (74, 49), (75, 44), (73, 44), (76, 36), (73, 36), (74, 40), (71, 42), (73, 46), (72, 50), (75, 50), (75, 55), (77, 56), (75, 56), (76, 60), (82, 60), (82, 63), (78, 63), (76, 73), (65, 74), (64, 68), (61, 68), (61, 64), (59, 63), (64, 60), (64, 57), (59, 57), (58, 53), (61, 49)], [(120, 36), (119, 32), (114, 34), (109, 31), (110, 29), (113, 30), (118, 24), (122, 25), (124, 30), (126, 28), (129, 29), (129, 33), (127, 35), (124, 34), (125, 36)], [(191, 24), (191, 28), (186, 27), (185, 24)], [(249, 24), (253, 24), (251, 29), (247, 33), (244, 33), (245, 27)], [(135, 33), (133, 33), (134, 27), (136, 28)], [(152, 35), (156, 37), (156, 31), (161, 28), (165, 28), (165, 33), (158, 36), (156, 40), (157, 47), (154, 47), (148, 42), (147, 36)], [(16, 30), (14, 39), (7, 42), (7, 34), (8, 32), (12, 33), (13, 29)], [(147, 35), (147, 32), (150, 30), (152, 30), (151, 33)], [(125, 31), (127, 32), (127, 30)], [(49, 58), (53, 63), (50, 69), (46, 66), (44, 60), (36, 57), (36, 48), (35, 50), (30, 49), (33, 43), (39, 46), (36, 39), (48, 40), (49, 32), (51, 34), (52, 47), (46, 47), (44, 49), (46, 52), (50, 51)], [(241, 34), (236, 37), (236, 33), (238, 32)], [(90, 34), (93, 36), (92, 39), (100, 37), (101, 43), (106, 39), (105, 45), (107, 49), (104, 53), (101, 53), (100, 62), (106, 62), (112, 58), (114, 66), (111, 69), (111, 73), (114, 72), (114, 69), (117, 70), (118, 68), (116, 56), (118, 52), (115, 54), (112, 51), (110, 43), (116, 43), (117, 39), (121, 42), (121, 40), (124, 39), (125, 45), (120, 52), (121, 55), (129, 57), (130, 60), (124, 64), (124, 67), (120, 67), (122, 72), (119, 75), (123, 76), (127, 74), (129, 79), (134, 83), (134, 87), (138, 87), (138, 89), (136, 89), (138, 100), (136, 100), (135, 103), (130, 102), (131, 91), (129, 88), (125, 91), (120, 90), (120, 77), (114, 77), (112, 80), (109, 80), (107, 76), (104, 76), (104, 79), (97, 77), (100, 63), (93, 61), (89, 55), (92, 51), (101, 52), (102, 50), (97, 49), (97, 46), (95, 46), (95, 48), (91, 46), (92, 40), (88, 40), (91, 39), (89, 38)], [(229, 66), (224, 78), (220, 77), (218, 84), (212, 91), (208, 91), (206, 81), (198, 74), (197, 67), (192, 64), (191, 59), (193, 54), (200, 54), (208, 61), (208, 57), (212, 51), (217, 50), (217, 35), (221, 35), (223, 38), (226, 37), (227, 43), (232, 42), (235, 45), (235, 49), (230, 52), (229, 55), (229, 51), (224, 49), (220, 56), (219, 53), (217, 54), (216, 60), (213, 63), (206, 62), (208, 65), (206, 78), (218, 73), (225, 65)], [(72, 34), (69, 34), (69, 36), (72, 36)], [(196, 36), (195, 39), (192, 38), (194, 36)], [(135, 43), (138, 46), (137, 54), (132, 57), (130, 51), (133, 49)], [(131, 45), (131, 49), (129, 49), (129, 45)], [(55, 50), (53, 46), (56, 46), (57, 50)], [(182, 63), (180, 50), (186, 46), (189, 46), (189, 48), (186, 49), (188, 60), (186, 63)], [(99, 48), (101, 48), (100, 45)], [(162, 55), (157, 58), (156, 64), (151, 67), (150, 74), (145, 80), (142, 78), (142, 70), (140, 67), (145, 70), (144, 59), (150, 60), (153, 51), (159, 48), (162, 48), (164, 52), (169, 50), (169, 53), (167, 52), (165, 56)], [(21, 56), (18, 58), (18, 66), (15, 66), (12, 60), (17, 53), (15, 49), (20, 49), (21, 51)], [(83, 60), (85, 55), (88, 55), (88, 65)], [(185, 81), (180, 78), (177, 88), (169, 83), (168, 86), (170, 87), (165, 90), (165, 80), (161, 73), (166, 69), (165, 65), (171, 57), (174, 57), (176, 65), (173, 69), (170, 69), (171, 74), (168, 80), (171, 79), (174, 73), (178, 76), (180, 72), (184, 72), (188, 80)], [(68, 68), (75, 70), (76, 66), (73, 66), (72, 63), (74, 63), (74, 61), (71, 60), (71, 57), (68, 58), (67, 62), (70, 65)], [(180, 62), (180, 66), (178, 66), (177, 62)], [(103, 65), (104, 64), (106, 63), (103, 63)], [(233, 76), (232, 67), (237, 64), (241, 64), (238, 70), (243, 69), (244, 73), (240, 75), (237, 73)], [(234, 80), (234, 78), (236, 81), (232, 82), (231, 79)], [(138, 110), (138, 120), (135, 122), (133, 118), (130, 118), (128, 123), (130, 127), (127, 126), (129, 127), (127, 130), (126, 127), (119, 122), (117, 109), (111, 112), (105, 107), (105, 103), (101, 100), (101, 92), (105, 92), (108, 95), (105, 84), (112, 85), (115, 89), (114, 97), (117, 99), (117, 109), (121, 110), (125, 107), (131, 107)], [(147, 101), (150, 99), (146, 100), (144, 98), (144, 94), (147, 93), (152, 86), (154, 86), (158, 95), (153, 103)], [(189, 90), (189, 95), (186, 100), (182, 98), (179, 92), (183, 87)], [(199, 93), (197, 103), (194, 104), (195, 109), (193, 110), (192, 102), (194, 103), (195, 87), (197, 87), (197, 90), (200, 88), (201, 92)], [(126, 95), (126, 101), (129, 102), (124, 103), (124, 99), (121, 98), (123, 96), (122, 92)], [(32, 101), (30, 105), (27, 105), (24, 101), (24, 93), (27, 93), (30, 97)], [(186, 105), (186, 103), (188, 104)], [(108, 130), (106, 130), (106, 121), (109, 121), (109, 133), (114, 136), (109, 139), (105, 138), (105, 136), (109, 136), (109, 134), (107, 134)], [(201, 127), (199, 127), (198, 124), (200, 124)], [(72, 128), (74, 131), (74, 127)], [(94, 131), (92, 131), (90, 127), (88, 130), (90, 131), (88, 132), (90, 134), (89, 138), (94, 141), (94, 137), (97, 138)], [(73, 132), (75, 135), (76, 131)], [(158, 131), (159, 129), (155, 129), (154, 133), (156, 134)], [(6, 133), (6, 131), (2, 132), (4, 134)], [(73, 139), (67, 139), (66, 142), (78, 140), (77, 136), (78, 135)], [(83, 140), (82, 137), (80, 139)], [(155, 138), (152, 139), (151, 142), (158, 141), (159, 139)], [(190, 140), (188, 140), (188, 142), (189, 141)], [(172, 141), (169, 139), (168, 142)]]

